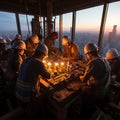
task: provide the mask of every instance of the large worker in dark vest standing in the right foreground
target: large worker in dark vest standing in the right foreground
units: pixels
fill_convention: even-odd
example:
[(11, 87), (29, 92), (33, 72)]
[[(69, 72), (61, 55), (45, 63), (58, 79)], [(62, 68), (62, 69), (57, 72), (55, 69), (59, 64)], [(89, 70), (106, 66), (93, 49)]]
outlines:
[(83, 82), (80, 118), (87, 120), (90, 118), (95, 104), (102, 102), (108, 95), (110, 66), (107, 60), (99, 55), (98, 47), (94, 43), (88, 43), (84, 46), (84, 54), (87, 57), (88, 64), (84, 75), (80, 76), (80, 80)]

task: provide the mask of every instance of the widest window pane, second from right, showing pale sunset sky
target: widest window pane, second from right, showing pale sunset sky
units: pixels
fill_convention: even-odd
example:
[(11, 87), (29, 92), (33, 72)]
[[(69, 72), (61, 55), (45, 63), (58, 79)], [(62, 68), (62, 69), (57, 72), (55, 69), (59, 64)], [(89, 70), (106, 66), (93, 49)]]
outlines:
[(98, 43), (103, 6), (93, 7), (76, 12), (75, 42), (79, 45), (81, 54), (88, 42)]

